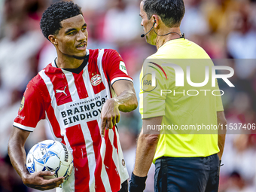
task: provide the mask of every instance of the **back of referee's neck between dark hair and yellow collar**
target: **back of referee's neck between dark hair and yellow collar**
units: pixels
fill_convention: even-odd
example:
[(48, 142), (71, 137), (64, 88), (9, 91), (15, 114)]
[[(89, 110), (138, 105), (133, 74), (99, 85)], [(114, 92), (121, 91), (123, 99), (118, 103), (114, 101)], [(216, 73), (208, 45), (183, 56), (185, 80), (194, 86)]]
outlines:
[[(169, 32), (173, 32), (173, 33), (170, 33), (169, 35), (165, 35)], [(158, 35), (165, 35), (165, 36), (158, 36), (157, 35), (156, 47), (157, 47), (157, 50), (158, 50), (167, 41), (171, 41), (171, 40), (176, 39), (176, 38), (181, 38), (181, 29), (179, 27), (165, 28), (165, 29), (162, 29), (162, 30), (158, 30), (157, 34)]]

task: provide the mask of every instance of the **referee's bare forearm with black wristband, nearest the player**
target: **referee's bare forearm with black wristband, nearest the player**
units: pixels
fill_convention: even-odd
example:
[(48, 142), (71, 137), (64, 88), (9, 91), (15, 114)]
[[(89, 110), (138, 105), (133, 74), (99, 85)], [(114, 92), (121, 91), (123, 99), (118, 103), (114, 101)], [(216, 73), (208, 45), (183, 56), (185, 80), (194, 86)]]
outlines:
[(137, 142), (136, 161), (130, 181), (130, 192), (140, 192), (145, 189), (145, 180), (154, 159), (160, 134), (159, 130), (147, 130), (147, 127), (148, 125), (160, 125), (162, 120), (163, 116), (143, 119), (142, 121), (142, 132)]

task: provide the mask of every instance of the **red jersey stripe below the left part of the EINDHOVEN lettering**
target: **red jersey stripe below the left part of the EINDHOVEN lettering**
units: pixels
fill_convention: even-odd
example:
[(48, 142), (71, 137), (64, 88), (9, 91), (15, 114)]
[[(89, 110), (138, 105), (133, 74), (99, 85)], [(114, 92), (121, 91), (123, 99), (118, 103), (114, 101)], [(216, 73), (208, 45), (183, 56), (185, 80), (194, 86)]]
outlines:
[(75, 167), (75, 191), (90, 191), (90, 172), (88, 166), (87, 150), (81, 125), (70, 126), (66, 129), (66, 136), (73, 149)]

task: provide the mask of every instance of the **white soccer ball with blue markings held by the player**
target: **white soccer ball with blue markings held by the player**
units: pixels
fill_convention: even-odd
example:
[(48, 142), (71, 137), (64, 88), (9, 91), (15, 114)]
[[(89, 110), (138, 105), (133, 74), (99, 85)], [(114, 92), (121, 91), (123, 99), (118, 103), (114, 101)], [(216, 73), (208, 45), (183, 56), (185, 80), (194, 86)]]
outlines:
[(26, 168), (29, 173), (39, 171), (54, 172), (54, 175), (44, 178), (68, 178), (72, 173), (73, 157), (61, 142), (45, 140), (34, 145), (26, 157)]

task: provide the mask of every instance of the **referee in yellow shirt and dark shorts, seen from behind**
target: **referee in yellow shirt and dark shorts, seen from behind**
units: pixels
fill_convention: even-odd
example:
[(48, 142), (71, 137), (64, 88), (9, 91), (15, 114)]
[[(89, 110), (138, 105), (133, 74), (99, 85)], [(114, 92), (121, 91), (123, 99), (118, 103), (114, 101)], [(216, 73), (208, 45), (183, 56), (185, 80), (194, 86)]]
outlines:
[[(187, 66), (190, 65), (191, 70), (197, 69), (190, 73), (193, 82), (202, 82), (205, 78), (202, 66), (203, 69), (213, 66), (202, 47), (181, 35), (179, 26), (184, 11), (183, 0), (143, 0), (140, 4), (146, 41), (155, 45), (157, 52), (145, 60), (141, 73), (139, 108), (143, 127), (138, 139), (130, 192), (145, 189), (152, 161), (156, 167), (154, 191), (218, 191), (219, 160), (225, 133), (209, 130), (205, 132), (209, 134), (191, 134), (196, 132), (181, 130), (184, 125), (196, 123), (215, 127), (226, 124), (221, 96), (213, 96), (211, 92), (197, 95), (202, 87), (191, 89), (188, 83), (175, 86), (186, 81), (186, 78), (178, 81), (177, 77)], [(216, 87), (218, 90), (218, 85)], [(209, 82), (204, 88), (212, 91), (216, 87)], [(187, 94), (187, 90), (196, 93)], [(192, 94), (194, 96), (190, 96)], [(155, 128), (159, 125), (161, 128), (169, 126), (169, 130), (164, 132)]]

